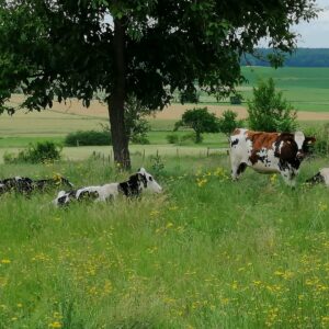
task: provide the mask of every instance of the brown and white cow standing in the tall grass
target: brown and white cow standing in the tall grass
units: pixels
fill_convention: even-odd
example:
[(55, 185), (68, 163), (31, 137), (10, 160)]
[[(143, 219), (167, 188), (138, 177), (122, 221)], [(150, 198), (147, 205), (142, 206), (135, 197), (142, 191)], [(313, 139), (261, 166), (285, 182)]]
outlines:
[(314, 137), (296, 133), (264, 133), (235, 129), (230, 136), (231, 177), (237, 180), (247, 167), (261, 173), (280, 173), (288, 185), (295, 177)]

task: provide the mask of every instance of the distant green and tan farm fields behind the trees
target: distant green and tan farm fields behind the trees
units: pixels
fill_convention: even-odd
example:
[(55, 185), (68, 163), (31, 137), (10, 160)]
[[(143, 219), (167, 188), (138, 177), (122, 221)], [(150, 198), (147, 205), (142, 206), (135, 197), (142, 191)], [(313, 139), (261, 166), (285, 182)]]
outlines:
[[(239, 117), (246, 117), (247, 100), (252, 95), (252, 87), (257, 84), (258, 79), (269, 77), (273, 77), (277, 89), (282, 90), (284, 97), (300, 111), (298, 113), (300, 121), (329, 121), (329, 68), (281, 68), (274, 70), (266, 67), (242, 67), (242, 72), (248, 79), (248, 83), (239, 87), (239, 91), (243, 95), (241, 105), (230, 105), (228, 100), (217, 102), (214, 97), (204, 92), (201, 92), (198, 104), (181, 105), (172, 102), (170, 106), (149, 117), (152, 129), (151, 143), (166, 144), (167, 133), (160, 134), (160, 132), (172, 131), (173, 123), (181, 117), (182, 113), (194, 106), (207, 106), (218, 116), (223, 111), (230, 109), (238, 112)], [(13, 104), (19, 104), (20, 101), (22, 101), (22, 95), (14, 95), (12, 99)], [(61, 139), (69, 132), (101, 129), (101, 124), (107, 123), (107, 107), (98, 101), (93, 101), (89, 109), (82, 107), (77, 100), (61, 104), (55, 102), (52, 110), (41, 113), (26, 114), (21, 110), (13, 116), (1, 115), (0, 147), (21, 147), (30, 141), (34, 143), (49, 137)], [(3, 137), (11, 138), (4, 140)]]

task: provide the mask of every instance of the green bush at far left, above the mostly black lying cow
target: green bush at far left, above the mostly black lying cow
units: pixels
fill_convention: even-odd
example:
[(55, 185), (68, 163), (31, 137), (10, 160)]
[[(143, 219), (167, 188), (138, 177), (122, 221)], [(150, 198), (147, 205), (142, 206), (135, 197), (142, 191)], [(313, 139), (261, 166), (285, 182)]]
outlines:
[(18, 155), (5, 152), (3, 155), (4, 163), (44, 163), (60, 160), (61, 148), (53, 141), (37, 143), (30, 145), (27, 149), (21, 150)]

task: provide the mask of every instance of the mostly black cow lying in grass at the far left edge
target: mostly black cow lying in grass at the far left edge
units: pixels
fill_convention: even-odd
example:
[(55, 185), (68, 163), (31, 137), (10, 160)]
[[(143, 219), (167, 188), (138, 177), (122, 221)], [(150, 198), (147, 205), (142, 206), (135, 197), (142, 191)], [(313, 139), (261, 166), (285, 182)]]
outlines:
[(72, 188), (73, 184), (61, 175), (56, 175), (53, 179), (32, 180), (27, 177), (14, 177), (0, 180), (0, 194), (5, 192), (18, 192), (30, 194), (33, 191), (44, 192), (47, 189), (66, 185)]

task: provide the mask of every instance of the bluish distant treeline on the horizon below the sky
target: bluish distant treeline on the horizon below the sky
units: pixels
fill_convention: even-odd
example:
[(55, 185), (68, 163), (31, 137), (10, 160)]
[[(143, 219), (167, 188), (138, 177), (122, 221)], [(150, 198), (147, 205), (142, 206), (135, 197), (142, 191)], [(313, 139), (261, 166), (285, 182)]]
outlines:
[[(247, 55), (241, 65), (270, 66), (266, 56), (271, 49), (258, 49), (261, 58)], [(286, 54), (284, 61), (286, 67), (329, 67), (329, 48), (298, 48), (292, 55)]]

